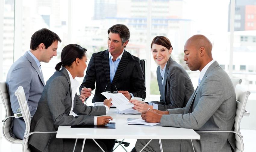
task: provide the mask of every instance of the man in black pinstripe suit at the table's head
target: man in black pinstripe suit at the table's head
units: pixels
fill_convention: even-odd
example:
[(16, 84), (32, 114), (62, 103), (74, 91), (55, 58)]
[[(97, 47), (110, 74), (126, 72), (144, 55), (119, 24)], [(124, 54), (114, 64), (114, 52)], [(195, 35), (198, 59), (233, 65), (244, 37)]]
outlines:
[[(108, 50), (93, 53), (80, 86), (81, 95), (88, 98), (95, 89), (92, 102), (103, 102), (104, 91), (118, 91), (127, 99), (141, 97), (145, 99), (146, 88), (139, 58), (126, 52), (130, 31), (123, 24), (108, 29)], [(96, 81), (96, 88), (95, 88)]]

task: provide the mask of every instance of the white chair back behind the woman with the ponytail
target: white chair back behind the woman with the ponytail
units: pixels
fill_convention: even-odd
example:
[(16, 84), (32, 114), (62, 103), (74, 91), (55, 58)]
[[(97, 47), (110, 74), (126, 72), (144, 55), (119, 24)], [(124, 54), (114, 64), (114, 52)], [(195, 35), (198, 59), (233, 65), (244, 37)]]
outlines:
[[(18, 87), (18, 89), (15, 92), (15, 96), (17, 96), (19, 105), (20, 105), (20, 111), (22, 113), (23, 119), (25, 121), (26, 124), (26, 130), (24, 135), (27, 135), (30, 132), (30, 124), (31, 124), (31, 115), (30, 115), (30, 111), (27, 105), (27, 100), (26, 100), (26, 96), (23, 90), (23, 87), (20, 86)], [(30, 152), (29, 148), (28, 148), (28, 137), (23, 139), (23, 143), (22, 143), (22, 151), (23, 152)]]

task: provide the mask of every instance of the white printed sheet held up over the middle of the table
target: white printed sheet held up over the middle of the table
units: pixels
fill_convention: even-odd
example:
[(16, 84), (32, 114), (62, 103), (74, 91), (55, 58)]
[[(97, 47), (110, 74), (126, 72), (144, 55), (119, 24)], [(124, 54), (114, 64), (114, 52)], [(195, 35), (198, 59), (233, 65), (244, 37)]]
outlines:
[(118, 110), (123, 111), (134, 107), (134, 105), (127, 105), (129, 100), (122, 93), (101, 93), (107, 99), (112, 99), (111, 103), (117, 107)]

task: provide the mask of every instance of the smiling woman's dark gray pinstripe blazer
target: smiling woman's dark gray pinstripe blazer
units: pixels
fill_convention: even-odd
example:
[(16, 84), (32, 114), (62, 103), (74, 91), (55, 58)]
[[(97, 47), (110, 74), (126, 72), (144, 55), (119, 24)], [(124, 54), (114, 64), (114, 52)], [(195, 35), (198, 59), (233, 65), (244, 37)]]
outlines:
[(160, 66), (157, 68), (157, 82), (160, 92), (158, 110), (165, 111), (172, 108), (183, 108), (194, 92), (193, 84), (184, 68), (171, 57), (166, 63), (164, 85), (162, 85)]

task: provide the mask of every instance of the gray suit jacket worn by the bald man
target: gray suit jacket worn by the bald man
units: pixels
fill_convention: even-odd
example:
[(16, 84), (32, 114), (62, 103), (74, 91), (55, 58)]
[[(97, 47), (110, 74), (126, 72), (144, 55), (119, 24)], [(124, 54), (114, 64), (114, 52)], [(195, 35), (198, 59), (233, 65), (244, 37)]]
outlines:
[[(169, 109), (163, 115), (161, 126), (200, 130), (233, 130), (236, 116), (236, 95), (226, 72), (215, 61), (204, 74), (200, 85), (192, 94), (185, 108)], [(193, 140), (196, 151), (226, 152), (235, 147), (233, 133), (199, 133), (200, 140)], [(191, 151), (190, 140), (182, 140), (181, 151)]]

